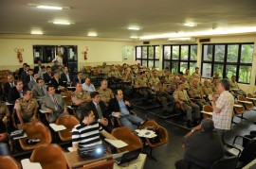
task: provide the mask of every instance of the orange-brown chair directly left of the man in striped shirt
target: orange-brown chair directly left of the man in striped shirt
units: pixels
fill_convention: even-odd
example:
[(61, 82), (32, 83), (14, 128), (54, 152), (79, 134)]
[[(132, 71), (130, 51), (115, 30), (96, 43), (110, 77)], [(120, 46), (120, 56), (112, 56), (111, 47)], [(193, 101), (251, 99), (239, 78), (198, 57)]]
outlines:
[(63, 117), (59, 117), (56, 121), (57, 125), (63, 125), (66, 127), (65, 130), (59, 131), (60, 139), (64, 142), (71, 141), (72, 133), (71, 130), (73, 127), (79, 124), (79, 120), (73, 115), (67, 115)]

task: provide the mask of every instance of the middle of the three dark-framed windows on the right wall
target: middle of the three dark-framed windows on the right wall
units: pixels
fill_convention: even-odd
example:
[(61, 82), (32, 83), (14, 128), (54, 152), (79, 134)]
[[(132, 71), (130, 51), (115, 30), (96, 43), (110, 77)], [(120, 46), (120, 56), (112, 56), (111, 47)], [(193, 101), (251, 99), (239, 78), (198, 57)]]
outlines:
[(173, 74), (190, 69), (194, 72), (197, 59), (196, 44), (163, 45), (163, 68), (168, 67)]

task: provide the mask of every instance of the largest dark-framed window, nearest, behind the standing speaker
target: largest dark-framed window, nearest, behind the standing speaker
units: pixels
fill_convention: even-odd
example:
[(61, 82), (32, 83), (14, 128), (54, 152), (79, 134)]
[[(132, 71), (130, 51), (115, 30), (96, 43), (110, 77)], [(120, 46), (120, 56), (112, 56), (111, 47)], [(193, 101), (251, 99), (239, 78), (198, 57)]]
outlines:
[(214, 72), (222, 77), (236, 76), (241, 83), (249, 83), (254, 43), (203, 44), (202, 76)]

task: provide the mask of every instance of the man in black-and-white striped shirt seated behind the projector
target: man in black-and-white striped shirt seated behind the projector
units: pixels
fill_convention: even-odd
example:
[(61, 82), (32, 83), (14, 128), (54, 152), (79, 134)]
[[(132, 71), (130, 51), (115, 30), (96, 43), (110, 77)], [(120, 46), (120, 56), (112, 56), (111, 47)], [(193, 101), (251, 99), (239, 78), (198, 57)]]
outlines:
[(107, 139), (116, 140), (116, 138), (100, 127), (95, 122), (93, 111), (82, 109), (81, 124), (72, 129), (72, 148), (77, 151), (79, 147), (90, 147), (102, 144), (100, 134)]

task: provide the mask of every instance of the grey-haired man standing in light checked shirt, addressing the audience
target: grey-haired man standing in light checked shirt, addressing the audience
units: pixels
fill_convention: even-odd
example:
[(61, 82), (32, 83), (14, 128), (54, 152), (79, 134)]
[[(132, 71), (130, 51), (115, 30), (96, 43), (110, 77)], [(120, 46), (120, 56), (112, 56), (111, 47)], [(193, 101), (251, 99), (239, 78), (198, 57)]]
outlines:
[(212, 120), (216, 131), (221, 135), (222, 142), (225, 143), (225, 132), (230, 130), (232, 112), (234, 107), (234, 97), (229, 93), (229, 80), (223, 78), (219, 81), (217, 92), (220, 93), (218, 99), (209, 95), (209, 100), (213, 108)]

